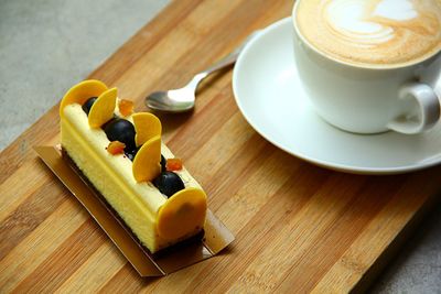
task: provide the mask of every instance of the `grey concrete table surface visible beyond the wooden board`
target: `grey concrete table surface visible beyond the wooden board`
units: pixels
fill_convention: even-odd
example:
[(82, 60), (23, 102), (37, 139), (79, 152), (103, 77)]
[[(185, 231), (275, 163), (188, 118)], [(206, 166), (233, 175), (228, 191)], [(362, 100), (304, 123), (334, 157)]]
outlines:
[[(168, 2), (0, 0), (0, 150)], [(440, 205), (370, 291), (441, 293)]]

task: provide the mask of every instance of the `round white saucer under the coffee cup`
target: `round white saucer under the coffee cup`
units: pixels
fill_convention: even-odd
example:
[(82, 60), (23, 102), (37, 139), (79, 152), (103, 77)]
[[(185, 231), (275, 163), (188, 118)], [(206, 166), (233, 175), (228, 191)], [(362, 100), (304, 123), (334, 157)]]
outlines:
[(294, 66), (291, 19), (257, 35), (233, 74), (246, 120), (276, 146), (311, 163), (363, 174), (396, 174), (441, 162), (441, 123), (430, 132), (354, 134), (323, 121), (312, 109)]

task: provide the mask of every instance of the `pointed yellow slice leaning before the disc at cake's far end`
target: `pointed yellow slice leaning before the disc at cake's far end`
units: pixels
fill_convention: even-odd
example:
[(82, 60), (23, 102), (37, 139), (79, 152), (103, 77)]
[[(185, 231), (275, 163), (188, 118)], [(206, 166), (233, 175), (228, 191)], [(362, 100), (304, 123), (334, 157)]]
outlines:
[(115, 107), (117, 105), (117, 88), (111, 88), (98, 96), (98, 99), (96, 99), (92, 106), (88, 115), (90, 128), (100, 128), (114, 117)]

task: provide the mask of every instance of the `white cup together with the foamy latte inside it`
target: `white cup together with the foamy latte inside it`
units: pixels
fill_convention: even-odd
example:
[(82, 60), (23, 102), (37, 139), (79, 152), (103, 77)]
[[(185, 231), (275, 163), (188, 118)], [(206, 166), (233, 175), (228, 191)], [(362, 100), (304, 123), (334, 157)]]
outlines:
[(409, 134), (439, 121), (440, 0), (297, 0), (292, 22), (300, 79), (325, 121)]

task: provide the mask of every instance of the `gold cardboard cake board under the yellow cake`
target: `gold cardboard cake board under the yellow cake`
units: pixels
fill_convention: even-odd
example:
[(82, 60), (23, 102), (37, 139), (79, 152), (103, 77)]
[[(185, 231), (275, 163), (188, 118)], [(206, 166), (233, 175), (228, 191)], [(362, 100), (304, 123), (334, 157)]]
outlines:
[(34, 146), (34, 150), (49, 168), (60, 178), (68, 190), (89, 211), (110, 240), (122, 252), (141, 276), (162, 276), (196, 262), (208, 259), (226, 248), (233, 240), (233, 233), (207, 210), (204, 226), (205, 236), (193, 241), (152, 255), (142, 248), (130, 230), (121, 224), (119, 217), (101, 200), (103, 196), (88, 186), (87, 182), (71, 166), (55, 146)]

